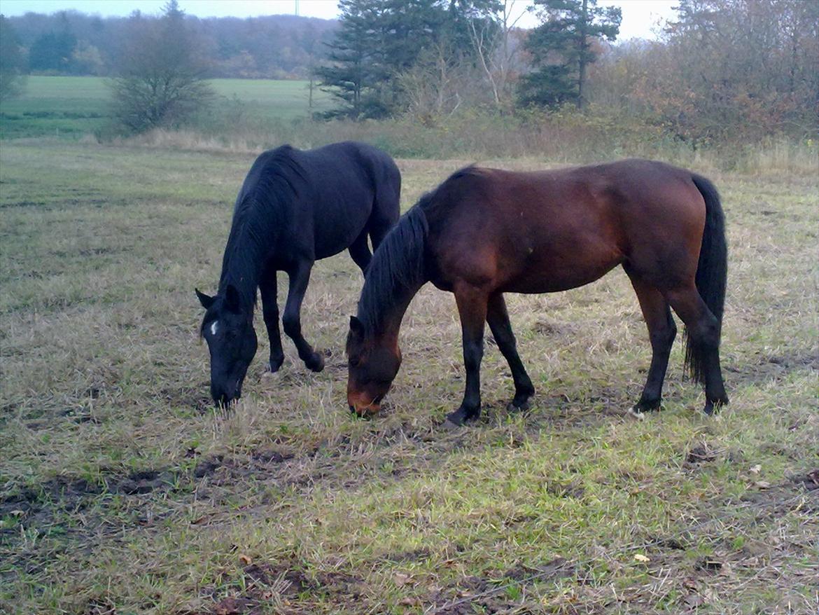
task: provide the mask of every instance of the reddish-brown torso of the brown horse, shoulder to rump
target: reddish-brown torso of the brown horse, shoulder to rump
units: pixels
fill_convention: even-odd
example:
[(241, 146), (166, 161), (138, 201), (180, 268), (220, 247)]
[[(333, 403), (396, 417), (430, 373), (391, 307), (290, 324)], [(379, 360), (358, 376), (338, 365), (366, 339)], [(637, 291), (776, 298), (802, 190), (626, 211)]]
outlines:
[(459, 171), (427, 206), (431, 250), (444, 272), (439, 285), (464, 280), (500, 291), (554, 292), (624, 262), (673, 264), (681, 276), (693, 276), (704, 202), (691, 176), (641, 160)]

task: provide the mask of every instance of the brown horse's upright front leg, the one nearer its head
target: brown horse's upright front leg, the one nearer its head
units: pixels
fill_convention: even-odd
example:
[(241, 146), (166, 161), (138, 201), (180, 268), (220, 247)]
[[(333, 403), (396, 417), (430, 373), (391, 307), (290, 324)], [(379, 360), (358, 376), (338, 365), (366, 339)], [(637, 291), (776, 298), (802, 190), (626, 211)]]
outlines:
[(455, 303), (458, 304), (461, 319), (466, 389), (464, 401), (455, 412), (446, 417), (446, 421), (459, 426), (481, 415), (481, 359), (483, 328), (486, 321), (486, 294), (473, 287), (461, 287), (455, 289)]

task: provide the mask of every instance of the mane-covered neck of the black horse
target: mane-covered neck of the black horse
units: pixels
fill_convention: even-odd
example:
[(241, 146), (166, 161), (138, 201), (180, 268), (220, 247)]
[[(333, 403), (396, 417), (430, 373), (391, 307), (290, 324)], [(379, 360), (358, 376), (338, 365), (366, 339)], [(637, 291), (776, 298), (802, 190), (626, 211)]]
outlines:
[(249, 294), (256, 303), (260, 268), (274, 244), (285, 204), (299, 198), (305, 186), (305, 171), (293, 151), (291, 146), (283, 145), (262, 153), (248, 171), (233, 207), (219, 293), (232, 284), (244, 298)]

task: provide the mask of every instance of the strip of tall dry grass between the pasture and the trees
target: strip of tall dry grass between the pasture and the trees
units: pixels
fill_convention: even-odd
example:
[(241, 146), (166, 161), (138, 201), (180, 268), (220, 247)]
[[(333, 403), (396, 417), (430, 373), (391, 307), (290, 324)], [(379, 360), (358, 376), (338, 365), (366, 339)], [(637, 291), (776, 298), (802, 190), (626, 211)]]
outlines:
[(699, 171), (746, 175), (819, 174), (819, 147), (812, 139), (767, 139), (755, 144), (695, 147), (661, 130), (597, 116), (499, 118), (468, 112), (437, 125), (397, 121), (265, 122), (224, 125), (219, 130), (153, 130), (117, 145), (179, 148), (199, 152), (260, 153), (276, 144), (314, 148), (346, 139), (378, 145), (395, 157), (536, 158), (553, 163), (600, 162), (622, 157), (672, 160)]

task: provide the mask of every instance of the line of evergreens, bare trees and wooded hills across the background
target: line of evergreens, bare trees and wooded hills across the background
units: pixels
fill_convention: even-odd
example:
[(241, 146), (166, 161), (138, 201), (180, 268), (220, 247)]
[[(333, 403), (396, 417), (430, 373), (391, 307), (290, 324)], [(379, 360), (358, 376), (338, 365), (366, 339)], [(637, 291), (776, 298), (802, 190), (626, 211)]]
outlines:
[[(517, 26), (522, 5), (538, 17), (532, 30)], [(29, 69), (57, 72), (87, 71), (104, 57), (130, 130), (179, 124), (207, 103), (207, 78), (270, 76), (271, 66), (331, 93), (337, 104), (325, 118), (440, 123), (465, 109), (570, 108), (697, 144), (819, 130), (819, 2), (680, 0), (657, 41), (625, 43), (620, 10), (596, 0), (341, 0), (339, 7), (339, 20), (328, 22), (198, 20), (176, 0), (159, 17), (2, 19), (0, 84), (6, 89), (13, 79), (3, 75), (25, 71), (26, 55)], [(282, 19), (291, 20), (287, 27), (270, 30)], [(18, 30), (20, 23), (39, 30)], [(116, 43), (102, 43), (102, 33)]]

